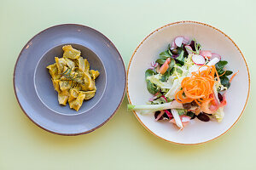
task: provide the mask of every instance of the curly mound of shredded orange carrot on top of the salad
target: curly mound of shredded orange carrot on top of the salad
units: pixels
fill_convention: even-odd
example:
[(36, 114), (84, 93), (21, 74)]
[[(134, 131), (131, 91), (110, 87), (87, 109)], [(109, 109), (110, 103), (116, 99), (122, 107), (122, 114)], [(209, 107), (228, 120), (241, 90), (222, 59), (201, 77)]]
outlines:
[(181, 87), (175, 93), (175, 99), (179, 103), (189, 103), (195, 101), (197, 105), (212, 100), (214, 77), (216, 75), (219, 81), (218, 72), (215, 65), (202, 65), (206, 67), (205, 71), (192, 72), (191, 77), (185, 77), (181, 82)]

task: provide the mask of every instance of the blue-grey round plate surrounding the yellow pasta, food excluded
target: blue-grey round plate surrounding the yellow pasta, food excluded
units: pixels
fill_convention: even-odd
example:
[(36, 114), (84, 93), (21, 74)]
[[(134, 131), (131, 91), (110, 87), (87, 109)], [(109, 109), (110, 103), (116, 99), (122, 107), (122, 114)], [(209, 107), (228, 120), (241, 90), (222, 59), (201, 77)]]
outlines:
[[(58, 104), (57, 93), (45, 68), (61, 57), (61, 47), (72, 44), (88, 59), (91, 69), (100, 71), (96, 95), (84, 101), (79, 112)], [(125, 65), (110, 40), (87, 26), (66, 24), (39, 32), (26, 43), (16, 61), (15, 95), (32, 122), (62, 135), (90, 133), (113, 116), (125, 95)], [(114, 94), (114, 95), (113, 95)]]

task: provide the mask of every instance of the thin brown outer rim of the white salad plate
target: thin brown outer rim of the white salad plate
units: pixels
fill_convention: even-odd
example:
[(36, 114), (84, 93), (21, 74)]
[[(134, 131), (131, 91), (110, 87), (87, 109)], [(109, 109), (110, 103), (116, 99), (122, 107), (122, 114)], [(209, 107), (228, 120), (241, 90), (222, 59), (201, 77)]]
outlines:
[[(166, 27), (168, 27), (168, 26), (175, 26), (175, 25), (178, 25), (178, 24), (188, 24), (188, 23), (189, 23), (189, 24), (197, 24), (197, 25), (201, 25), (201, 26), (210, 27), (210, 28), (214, 29), (215, 31), (218, 31), (219, 33), (221, 33), (222, 35), (224, 35), (224, 37), (227, 37), (228, 39), (230, 39), (230, 41), (235, 45), (236, 49), (237, 49), (237, 50), (239, 51), (239, 53), (241, 54), (241, 56), (242, 56), (242, 58), (243, 58), (243, 60), (244, 60), (244, 63), (245, 63), (245, 65), (247, 66), (247, 76), (248, 76), (248, 92), (247, 92), (247, 99), (246, 99), (246, 103), (245, 103), (245, 105), (243, 106), (243, 109), (242, 109), (242, 111), (241, 111), (239, 117), (236, 119), (236, 122), (234, 122), (234, 123), (230, 126), (230, 128), (231, 128), (231, 127), (234, 127), (234, 125), (240, 120), (241, 115), (242, 115), (242, 113), (244, 112), (244, 110), (245, 110), (245, 108), (246, 108), (246, 106), (247, 106), (247, 101), (248, 101), (249, 94), (250, 94), (251, 78), (250, 78), (250, 72), (249, 72), (249, 68), (248, 68), (248, 65), (247, 65), (247, 61), (246, 61), (244, 55), (241, 53), (241, 49), (238, 48), (238, 46), (236, 45), (236, 42), (234, 42), (228, 35), (226, 35), (223, 31), (220, 31), (218, 28), (216, 28), (216, 27), (214, 27), (214, 26), (210, 26), (210, 25), (208, 25), (208, 24), (205, 24), (205, 23), (202, 23), (202, 22), (199, 22), (199, 21), (194, 21), (194, 20), (180, 20), (180, 21), (176, 21), (176, 22), (169, 23), (169, 24), (167, 24), (167, 25), (165, 25), (165, 26), (161, 26), (161, 27), (159, 27), (158, 29), (152, 31), (151, 33), (148, 34), (147, 37), (145, 37), (145, 38), (143, 39), (142, 42), (139, 43), (139, 45), (138, 45), (137, 48), (134, 50), (134, 52), (133, 52), (133, 54), (132, 54), (132, 56), (131, 56), (131, 59), (130, 59), (130, 61), (129, 61), (128, 68), (127, 68), (127, 71), (126, 71), (126, 94), (127, 94), (127, 99), (128, 99), (128, 101), (129, 101), (129, 104), (131, 104), (131, 99), (130, 99), (129, 89), (128, 89), (128, 75), (129, 75), (129, 70), (130, 70), (130, 66), (131, 66), (131, 60), (133, 59), (134, 55), (137, 53), (137, 49), (140, 48), (140, 46), (143, 44), (143, 42), (146, 41), (146, 40), (148, 39), (148, 37), (152, 36), (155, 32), (160, 31), (161, 29), (166, 28)], [(137, 120), (143, 125), (143, 127), (145, 127), (145, 128), (148, 130), (149, 133), (152, 133), (152, 134), (154, 134), (154, 136), (156, 136), (156, 137), (158, 137), (158, 138), (160, 138), (160, 139), (163, 139), (163, 140), (165, 140), (166, 142), (169, 142), (169, 143), (172, 143), (172, 144), (181, 144), (181, 145), (205, 144), (205, 143), (210, 142), (210, 141), (212, 141), (212, 140), (214, 140), (214, 139), (218, 139), (218, 137), (224, 135), (224, 133), (227, 133), (227, 132), (230, 130), (230, 128), (228, 128), (226, 131), (224, 131), (224, 133), (221, 133), (221, 134), (219, 134), (217, 137), (215, 137), (215, 138), (213, 138), (213, 139), (209, 139), (209, 140), (204, 141), (204, 142), (183, 144), (183, 143), (174, 142), (174, 141), (172, 141), (172, 140), (168, 140), (168, 139), (164, 139), (164, 138), (160, 137), (159, 135), (157, 135), (157, 134), (155, 134), (154, 132), (152, 132), (152, 131), (141, 121), (141, 119), (137, 116), (137, 113), (136, 113), (135, 111), (133, 111), (133, 114), (137, 117)]]

